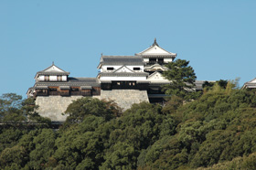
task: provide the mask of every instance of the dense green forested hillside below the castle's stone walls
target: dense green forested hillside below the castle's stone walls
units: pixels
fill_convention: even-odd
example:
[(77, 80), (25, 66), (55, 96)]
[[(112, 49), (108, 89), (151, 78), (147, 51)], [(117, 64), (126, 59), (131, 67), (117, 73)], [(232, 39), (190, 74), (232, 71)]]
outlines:
[(255, 91), (230, 82), (194, 101), (173, 97), (125, 112), (83, 98), (58, 131), (31, 102), (15, 94), (0, 100), (1, 169), (256, 169)]

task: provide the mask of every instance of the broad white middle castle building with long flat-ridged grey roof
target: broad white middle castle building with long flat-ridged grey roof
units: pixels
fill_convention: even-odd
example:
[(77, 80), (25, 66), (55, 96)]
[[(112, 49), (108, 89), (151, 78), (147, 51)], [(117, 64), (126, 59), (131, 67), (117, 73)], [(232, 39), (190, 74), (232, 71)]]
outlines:
[(148, 73), (140, 56), (101, 56), (98, 66), (101, 90), (145, 88)]

